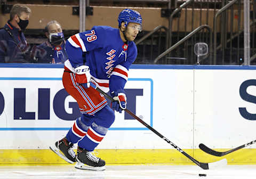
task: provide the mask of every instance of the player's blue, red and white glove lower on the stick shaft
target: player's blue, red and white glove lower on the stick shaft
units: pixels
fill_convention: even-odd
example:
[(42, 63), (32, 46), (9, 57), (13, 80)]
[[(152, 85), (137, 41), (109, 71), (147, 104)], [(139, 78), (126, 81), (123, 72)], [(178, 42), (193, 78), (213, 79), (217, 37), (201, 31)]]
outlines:
[(119, 113), (122, 113), (122, 110), (126, 109), (126, 95), (123, 90), (117, 90), (116, 92), (111, 92), (111, 96), (115, 100), (111, 102), (111, 108), (116, 110)]

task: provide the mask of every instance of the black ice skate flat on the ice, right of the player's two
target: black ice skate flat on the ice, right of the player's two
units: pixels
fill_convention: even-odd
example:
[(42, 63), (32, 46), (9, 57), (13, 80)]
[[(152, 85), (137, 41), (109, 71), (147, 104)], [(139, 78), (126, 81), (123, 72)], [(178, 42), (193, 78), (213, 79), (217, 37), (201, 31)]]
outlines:
[(76, 154), (76, 165), (75, 168), (78, 169), (88, 169), (88, 170), (105, 170), (105, 161), (94, 156), (93, 152), (89, 152), (80, 147), (77, 148)]

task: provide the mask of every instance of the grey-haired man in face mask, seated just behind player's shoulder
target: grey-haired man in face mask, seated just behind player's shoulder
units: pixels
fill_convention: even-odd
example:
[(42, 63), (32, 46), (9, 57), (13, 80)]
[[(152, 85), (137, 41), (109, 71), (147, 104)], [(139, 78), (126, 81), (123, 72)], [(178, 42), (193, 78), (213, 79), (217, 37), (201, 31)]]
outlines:
[(64, 63), (68, 59), (60, 23), (53, 20), (45, 27), (47, 41), (33, 48), (31, 58), (37, 63)]

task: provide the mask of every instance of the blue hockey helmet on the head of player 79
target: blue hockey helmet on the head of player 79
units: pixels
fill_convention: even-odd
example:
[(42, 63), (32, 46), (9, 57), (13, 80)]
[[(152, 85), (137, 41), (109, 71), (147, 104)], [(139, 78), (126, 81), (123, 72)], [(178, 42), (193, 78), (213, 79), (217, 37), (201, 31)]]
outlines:
[(139, 23), (142, 26), (142, 18), (138, 11), (131, 9), (124, 9), (118, 15), (118, 26), (121, 27), (121, 23), (125, 23), (125, 27), (129, 22)]

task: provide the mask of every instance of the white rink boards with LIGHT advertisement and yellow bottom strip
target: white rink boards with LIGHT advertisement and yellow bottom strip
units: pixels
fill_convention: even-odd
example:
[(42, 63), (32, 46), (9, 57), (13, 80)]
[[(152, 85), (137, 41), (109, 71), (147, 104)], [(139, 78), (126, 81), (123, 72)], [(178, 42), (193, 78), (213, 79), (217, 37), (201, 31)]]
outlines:
[[(1, 64), (0, 68), (0, 135), (5, 136), (0, 164), (65, 163), (49, 150), (79, 115), (75, 100), (63, 90), (63, 66)], [(216, 161), (219, 158), (203, 153), (198, 144), (225, 151), (255, 140), (255, 69), (134, 65), (125, 86), (127, 108), (199, 161)], [(229, 154), (229, 164), (256, 163), (255, 148), (250, 145)], [(116, 113), (97, 149), (111, 164), (191, 164), (125, 113)]]

